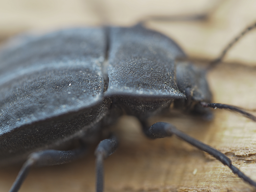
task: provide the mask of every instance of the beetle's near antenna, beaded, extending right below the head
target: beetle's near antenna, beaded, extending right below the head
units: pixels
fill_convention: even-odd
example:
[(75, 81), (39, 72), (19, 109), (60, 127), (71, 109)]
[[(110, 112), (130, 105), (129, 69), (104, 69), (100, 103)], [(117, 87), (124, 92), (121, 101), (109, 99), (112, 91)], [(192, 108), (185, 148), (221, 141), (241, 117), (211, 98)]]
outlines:
[(206, 102), (201, 102), (201, 105), (204, 107), (211, 107), (213, 109), (228, 109), (228, 110), (231, 110), (234, 112), (238, 112), (238, 113), (242, 114), (243, 116), (256, 122), (256, 117), (254, 115), (252, 115), (251, 113), (246, 112), (244, 109), (234, 106), (234, 105), (227, 105), (227, 104), (222, 104), (222, 103), (206, 103)]

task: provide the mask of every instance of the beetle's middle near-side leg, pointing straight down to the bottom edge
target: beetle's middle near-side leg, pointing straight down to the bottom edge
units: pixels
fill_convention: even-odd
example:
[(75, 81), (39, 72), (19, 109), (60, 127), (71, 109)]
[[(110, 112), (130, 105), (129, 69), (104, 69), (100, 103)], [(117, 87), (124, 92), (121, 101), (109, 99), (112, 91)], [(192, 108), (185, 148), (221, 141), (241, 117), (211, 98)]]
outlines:
[(103, 191), (104, 167), (103, 160), (114, 153), (118, 143), (115, 137), (102, 140), (95, 150), (96, 156), (96, 191)]

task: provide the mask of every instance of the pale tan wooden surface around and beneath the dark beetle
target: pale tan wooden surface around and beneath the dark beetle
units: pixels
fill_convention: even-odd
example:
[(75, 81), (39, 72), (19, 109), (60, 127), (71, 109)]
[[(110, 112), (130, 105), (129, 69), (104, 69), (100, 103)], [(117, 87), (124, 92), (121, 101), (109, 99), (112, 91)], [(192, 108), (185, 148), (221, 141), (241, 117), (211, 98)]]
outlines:
[[(112, 25), (132, 25), (146, 15), (203, 13), (215, 1), (100, 1)], [(191, 1), (192, 2), (192, 1)], [(221, 1), (207, 22), (149, 22), (148, 27), (173, 37), (191, 57), (214, 58), (245, 26), (256, 20), (255, 1)], [(97, 6), (96, 6), (97, 7)], [(102, 8), (101, 8), (102, 9)], [(93, 1), (0, 1), (0, 39), (20, 31), (40, 33), (66, 26), (99, 25)], [(256, 114), (256, 30), (244, 37), (225, 61), (209, 72), (215, 102)], [(234, 64), (241, 63), (240, 65)], [(256, 180), (256, 123), (214, 110), (215, 119), (173, 113), (156, 117), (227, 154)], [(119, 149), (105, 162), (105, 191), (255, 191), (220, 162), (177, 138), (148, 140), (134, 117), (113, 126)], [(0, 170), (0, 191), (8, 191), (19, 166)], [(20, 191), (94, 191), (93, 150), (73, 163), (33, 168)]]

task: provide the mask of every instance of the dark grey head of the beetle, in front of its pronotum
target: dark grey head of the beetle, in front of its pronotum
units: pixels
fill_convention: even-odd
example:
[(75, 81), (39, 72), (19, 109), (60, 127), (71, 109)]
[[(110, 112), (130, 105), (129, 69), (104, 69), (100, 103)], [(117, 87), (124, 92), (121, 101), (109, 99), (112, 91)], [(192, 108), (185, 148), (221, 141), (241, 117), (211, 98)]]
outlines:
[(204, 108), (201, 102), (211, 102), (212, 95), (206, 80), (206, 69), (193, 65), (190, 62), (176, 64), (176, 83), (186, 99), (176, 100), (175, 107), (186, 112), (200, 114), (204, 119), (212, 119), (212, 113)]

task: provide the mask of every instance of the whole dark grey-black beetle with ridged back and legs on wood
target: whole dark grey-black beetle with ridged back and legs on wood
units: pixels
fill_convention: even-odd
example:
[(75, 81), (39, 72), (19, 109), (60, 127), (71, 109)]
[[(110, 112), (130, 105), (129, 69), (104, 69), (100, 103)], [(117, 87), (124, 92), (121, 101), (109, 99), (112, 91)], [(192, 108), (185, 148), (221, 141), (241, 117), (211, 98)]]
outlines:
[[(240, 35), (240, 36), (243, 36)], [(236, 42), (239, 38), (235, 39)], [(234, 43), (233, 42), (233, 43)], [(221, 61), (224, 54), (214, 62)], [(170, 38), (142, 25), (130, 28), (76, 28), (27, 37), (0, 53), (0, 164), (24, 163), (10, 191), (18, 191), (31, 166), (62, 164), (86, 152), (104, 127), (134, 115), (150, 138), (175, 134), (227, 165), (244, 181), (256, 183), (216, 149), (147, 119), (171, 104), (211, 118), (209, 108), (240, 108), (211, 102), (207, 70), (189, 61)], [(59, 151), (73, 141), (79, 147)], [(103, 160), (117, 146), (114, 136), (95, 150), (98, 192), (103, 191)]]

